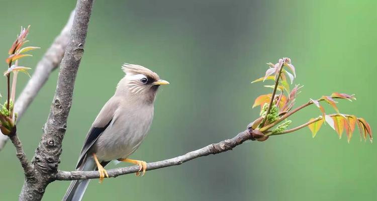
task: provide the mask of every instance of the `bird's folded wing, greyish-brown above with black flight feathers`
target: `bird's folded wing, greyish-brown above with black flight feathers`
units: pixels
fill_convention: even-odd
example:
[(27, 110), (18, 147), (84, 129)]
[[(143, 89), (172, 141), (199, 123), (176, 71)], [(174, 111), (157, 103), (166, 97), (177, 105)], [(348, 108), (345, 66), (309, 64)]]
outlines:
[(105, 106), (98, 114), (96, 120), (91, 125), (89, 132), (86, 134), (84, 145), (81, 149), (80, 157), (78, 159), (76, 168), (80, 167), (82, 161), (86, 156), (86, 152), (97, 141), (100, 135), (109, 127), (112, 121), (114, 121), (115, 111), (118, 109), (120, 99), (113, 96), (111, 97)]

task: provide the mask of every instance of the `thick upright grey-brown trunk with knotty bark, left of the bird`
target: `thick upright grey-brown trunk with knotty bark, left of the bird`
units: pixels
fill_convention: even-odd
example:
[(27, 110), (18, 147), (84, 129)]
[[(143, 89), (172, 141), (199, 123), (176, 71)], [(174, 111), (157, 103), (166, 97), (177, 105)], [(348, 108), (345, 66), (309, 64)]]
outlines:
[(59, 156), (62, 151), (61, 143), (72, 105), (77, 70), (84, 52), (92, 4), (93, 0), (77, 1), (69, 42), (61, 62), (50, 114), (32, 161), (34, 177), (25, 178), (20, 200), (41, 200), (47, 185), (56, 177), (60, 163)]

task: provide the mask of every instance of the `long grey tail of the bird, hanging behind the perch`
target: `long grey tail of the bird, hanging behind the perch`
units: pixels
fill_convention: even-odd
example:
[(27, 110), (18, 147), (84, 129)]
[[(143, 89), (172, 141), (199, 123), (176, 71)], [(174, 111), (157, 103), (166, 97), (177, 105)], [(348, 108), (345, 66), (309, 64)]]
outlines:
[[(91, 171), (96, 170), (96, 167), (95, 161), (91, 157), (86, 157), (85, 162), (77, 170)], [(90, 179), (71, 181), (67, 192), (65, 192), (63, 201), (80, 201), (89, 181)]]

